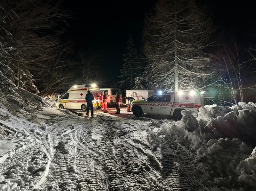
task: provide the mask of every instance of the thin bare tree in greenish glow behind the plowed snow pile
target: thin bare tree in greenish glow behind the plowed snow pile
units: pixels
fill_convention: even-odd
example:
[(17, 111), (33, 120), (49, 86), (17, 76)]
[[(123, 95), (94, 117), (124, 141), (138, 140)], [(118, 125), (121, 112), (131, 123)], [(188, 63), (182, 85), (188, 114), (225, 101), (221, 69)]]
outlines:
[(243, 102), (245, 87), (252, 88), (245, 80), (249, 74), (249, 54), (246, 49), (237, 47), (235, 40), (231, 42), (222, 46), (221, 53), (216, 56), (219, 80), (206, 88), (210, 99), (218, 99), (222, 105)]

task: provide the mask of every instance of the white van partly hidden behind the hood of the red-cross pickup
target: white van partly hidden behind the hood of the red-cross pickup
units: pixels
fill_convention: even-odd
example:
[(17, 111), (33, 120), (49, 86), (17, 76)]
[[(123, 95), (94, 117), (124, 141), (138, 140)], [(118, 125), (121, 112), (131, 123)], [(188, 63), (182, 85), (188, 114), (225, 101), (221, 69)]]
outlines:
[[(154, 95), (152, 89), (129, 89), (125, 91), (125, 96), (129, 97), (129, 100), (143, 100), (149, 96)], [(128, 99), (126, 99), (126, 104), (128, 104)]]

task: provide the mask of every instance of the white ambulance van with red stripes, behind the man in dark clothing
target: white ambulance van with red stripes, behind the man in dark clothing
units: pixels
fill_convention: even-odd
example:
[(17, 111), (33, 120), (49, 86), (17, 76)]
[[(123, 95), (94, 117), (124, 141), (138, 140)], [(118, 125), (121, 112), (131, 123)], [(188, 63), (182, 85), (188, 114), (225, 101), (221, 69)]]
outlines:
[[(85, 96), (90, 90), (91, 94), (94, 95), (94, 102), (98, 102), (101, 95), (101, 90), (98, 87), (88, 87), (88, 84), (81, 84), (72, 86), (67, 90), (61, 99), (58, 101), (57, 108), (61, 109), (81, 109), (86, 111), (87, 103)], [(99, 102), (98, 102), (99, 103)], [(94, 106), (97, 104), (94, 104)]]

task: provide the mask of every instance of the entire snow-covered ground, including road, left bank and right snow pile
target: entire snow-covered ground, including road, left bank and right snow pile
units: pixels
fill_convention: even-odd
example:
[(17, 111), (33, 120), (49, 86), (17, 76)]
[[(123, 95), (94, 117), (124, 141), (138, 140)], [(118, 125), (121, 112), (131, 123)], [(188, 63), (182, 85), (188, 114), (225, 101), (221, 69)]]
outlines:
[[(256, 105), (134, 117), (0, 95), (0, 190), (256, 190)], [(78, 111), (81, 112), (81, 111)]]

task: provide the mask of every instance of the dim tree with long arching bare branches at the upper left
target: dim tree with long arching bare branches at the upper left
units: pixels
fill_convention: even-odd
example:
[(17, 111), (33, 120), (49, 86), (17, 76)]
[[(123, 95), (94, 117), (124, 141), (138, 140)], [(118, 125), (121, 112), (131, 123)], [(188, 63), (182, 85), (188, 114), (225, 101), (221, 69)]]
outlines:
[(22, 82), (17, 85), (38, 92), (34, 85), (37, 84), (41, 93), (53, 92), (56, 81), (64, 80), (61, 76), (68, 79), (63, 67), (68, 64), (64, 59), (69, 51), (60, 37), (67, 29), (66, 19), (70, 14), (61, 8), (61, 1), (2, 0), (1, 3), (12, 12), (12, 34), (21, 42), (20, 58), (13, 68)]

